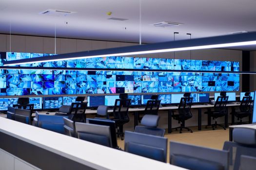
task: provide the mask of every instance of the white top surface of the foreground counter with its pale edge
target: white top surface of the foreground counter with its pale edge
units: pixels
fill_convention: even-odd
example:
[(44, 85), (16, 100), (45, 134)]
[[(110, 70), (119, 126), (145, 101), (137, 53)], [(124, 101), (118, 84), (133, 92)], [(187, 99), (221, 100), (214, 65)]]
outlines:
[(98, 170), (184, 170), (167, 163), (1, 117), (0, 132)]

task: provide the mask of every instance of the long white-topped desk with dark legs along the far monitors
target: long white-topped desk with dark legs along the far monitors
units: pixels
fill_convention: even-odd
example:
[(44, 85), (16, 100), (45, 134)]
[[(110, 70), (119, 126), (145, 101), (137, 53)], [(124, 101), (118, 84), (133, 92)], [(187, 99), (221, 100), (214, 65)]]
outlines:
[[(232, 112), (235, 109), (236, 106), (239, 106), (240, 104), (233, 103), (233, 104), (227, 104), (227, 108), (231, 107)], [(201, 104), (201, 105), (192, 105), (191, 109), (196, 109), (197, 110), (197, 125), (198, 125), (198, 130), (201, 130), (202, 126), (202, 109), (211, 109), (213, 108), (214, 105), (212, 104)], [(172, 133), (172, 114), (174, 113), (175, 110), (178, 109), (178, 106), (167, 106), (167, 107), (159, 107), (159, 111), (167, 111), (168, 112), (168, 133)], [(134, 113), (134, 128), (135, 126), (138, 125), (138, 115), (139, 112), (143, 112), (145, 109), (144, 108), (129, 108), (130, 113)], [(109, 113), (113, 112), (113, 109), (108, 110)], [(46, 112), (39, 112), (39, 114), (45, 114)], [(97, 110), (90, 110), (86, 109), (85, 114), (96, 114)], [(54, 115), (55, 112), (50, 112), (49, 115)], [(229, 112), (228, 112), (229, 114)], [(32, 117), (35, 116), (35, 113), (32, 114)], [(233, 117), (232, 117), (232, 123)], [(211, 124), (211, 117), (208, 117), (208, 125)], [(225, 127), (228, 127), (228, 115), (225, 116)]]

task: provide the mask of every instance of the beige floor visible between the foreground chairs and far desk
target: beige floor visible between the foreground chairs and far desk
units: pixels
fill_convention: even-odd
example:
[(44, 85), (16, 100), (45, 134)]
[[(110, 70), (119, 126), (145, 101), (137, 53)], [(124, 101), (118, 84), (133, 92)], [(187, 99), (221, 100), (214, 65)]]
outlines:
[[(197, 130), (197, 127), (191, 127), (193, 133), (190, 133), (186, 130), (182, 134), (179, 131), (173, 131), (172, 134), (167, 134), (164, 137), (168, 138), (168, 150), (167, 150), (167, 160), (169, 162), (169, 141), (177, 141), (182, 143), (188, 143), (197, 146), (204, 146), (208, 148), (214, 148), (222, 150), (223, 144), (225, 141), (229, 140), (229, 129), (223, 130), (218, 127), (216, 130), (211, 128), (205, 129), (202, 127), (201, 131)], [(167, 130), (166, 130), (167, 131)], [(118, 138), (118, 146), (121, 149), (124, 149), (124, 140)]]

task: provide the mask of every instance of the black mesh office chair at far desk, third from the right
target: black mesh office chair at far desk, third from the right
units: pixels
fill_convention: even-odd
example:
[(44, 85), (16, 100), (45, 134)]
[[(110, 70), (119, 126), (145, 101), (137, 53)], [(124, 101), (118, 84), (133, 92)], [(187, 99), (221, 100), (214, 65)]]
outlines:
[(193, 133), (190, 128), (185, 127), (185, 120), (192, 118), (192, 113), (190, 111), (192, 102), (192, 97), (182, 97), (178, 105), (178, 114), (172, 115), (173, 119), (178, 120), (178, 123), (180, 123), (179, 127), (172, 129), (177, 130), (177, 128), (179, 128), (179, 133), (182, 133), (182, 129), (187, 129), (188, 131)]

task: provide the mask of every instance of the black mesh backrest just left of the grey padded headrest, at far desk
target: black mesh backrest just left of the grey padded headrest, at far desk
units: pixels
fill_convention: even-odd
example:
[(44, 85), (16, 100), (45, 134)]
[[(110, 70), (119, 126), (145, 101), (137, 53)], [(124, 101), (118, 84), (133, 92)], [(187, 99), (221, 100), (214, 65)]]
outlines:
[(71, 103), (71, 114), (74, 114), (73, 121), (85, 122), (86, 121), (86, 107), (87, 102), (72, 102)]

